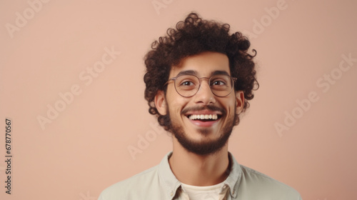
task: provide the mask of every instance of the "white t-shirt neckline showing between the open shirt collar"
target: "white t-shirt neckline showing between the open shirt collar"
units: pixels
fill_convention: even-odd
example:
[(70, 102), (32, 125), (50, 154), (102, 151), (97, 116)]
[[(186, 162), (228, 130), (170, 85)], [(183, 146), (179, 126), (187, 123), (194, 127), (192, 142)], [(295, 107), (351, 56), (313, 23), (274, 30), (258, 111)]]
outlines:
[(181, 186), (190, 200), (217, 200), (222, 191), (223, 182), (213, 186), (191, 186), (182, 183)]

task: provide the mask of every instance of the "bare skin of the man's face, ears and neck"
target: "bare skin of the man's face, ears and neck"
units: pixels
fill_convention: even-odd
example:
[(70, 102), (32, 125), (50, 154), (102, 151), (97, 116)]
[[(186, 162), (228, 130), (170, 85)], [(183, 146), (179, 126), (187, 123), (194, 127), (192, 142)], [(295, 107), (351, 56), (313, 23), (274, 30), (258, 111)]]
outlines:
[[(183, 59), (178, 66), (171, 67), (169, 78), (177, 76), (182, 71), (193, 71), (200, 78), (210, 77), (215, 71), (226, 71), (228, 75), (231, 75), (228, 57), (225, 54), (211, 51)], [(159, 113), (165, 115), (169, 111), (173, 124), (181, 128), (180, 130), (186, 139), (198, 145), (217, 141), (225, 133), (227, 127), (233, 128), (232, 120), (236, 113), (241, 113), (243, 102), (243, 91), (232, 91), (225, 97), (215, 96), (208, 85), (208, 79), (202, 79), (201, 87), (194, 96), (180, 96), (172, 82), (167, 86), (166, 95), (164, 91), (159, 91), (155, 97), (155, 104)], [(202, 112), (218, 112), (219, 114), (220, 111), (205, 109), (181, 113), (183, 109), (207, 105), (217, 106), (225, 111), (220, 119), (209, 126), (200, 124), (198, 121), (192, 121), (186, 115)], [(226, 173), (229, 166), (228, 142), (211, 154), (201, 155), (185, 149), (175, 136), (172, 137), (172, 141), (173, 154), (169, 159), (169, 164), (178, 181), (193, 186), (211, 186), (221, 183), (228, 176)]]

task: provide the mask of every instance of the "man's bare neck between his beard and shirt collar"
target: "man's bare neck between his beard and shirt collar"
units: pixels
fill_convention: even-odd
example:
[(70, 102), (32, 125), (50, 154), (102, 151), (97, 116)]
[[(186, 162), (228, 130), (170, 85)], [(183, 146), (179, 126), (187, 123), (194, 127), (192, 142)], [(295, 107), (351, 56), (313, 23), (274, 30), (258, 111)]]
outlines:
[[(173, 137), (173, 140), (176, 138)], [(228, 174), (228, 143), (214, 154), (198, 155), (188, 152), (174, 141), (169, 159), (171, 170), (178, 181), (193, 186), (211, 186), (223, 182)]]

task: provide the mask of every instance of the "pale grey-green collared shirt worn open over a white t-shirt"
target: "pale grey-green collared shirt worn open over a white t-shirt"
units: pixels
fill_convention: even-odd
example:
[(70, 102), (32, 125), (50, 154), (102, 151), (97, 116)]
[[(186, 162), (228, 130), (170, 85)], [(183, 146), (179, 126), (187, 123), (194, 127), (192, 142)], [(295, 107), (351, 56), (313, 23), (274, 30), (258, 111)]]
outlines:
[[(176, 179), (169, 166), (166, 154), (158, 166), (136, 174), (105, 189), (99, 200), (119, 199), (185, 199), (188, 195), (181, 189), (181, 182)], [(238, 164), (228, 153), (231, 171), (221, 189), (219, 199), (247, 200), (301, 200), (298, 191), (258, 171)]]

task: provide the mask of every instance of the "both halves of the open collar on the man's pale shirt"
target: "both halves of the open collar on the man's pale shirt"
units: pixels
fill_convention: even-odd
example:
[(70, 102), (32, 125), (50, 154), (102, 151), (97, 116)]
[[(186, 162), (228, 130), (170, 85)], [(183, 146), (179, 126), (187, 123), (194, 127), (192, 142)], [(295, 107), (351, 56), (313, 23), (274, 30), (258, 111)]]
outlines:
[[(177, 189), (181, 186), (181, 182), (176, 179), (176, 176), (172, 173), (170, 168), (169, 158), (171, 154), (172, 151), (166, 154), (159, 164), (159, 179), (164, 183), (162, 186), (166, 191), (168, 199), (173, 199)], [(237, 196), (239, 183), (241, 182), (242, 169), (241, 165), (238, 164), (230, 152), (228, 152), (228, 157), (231, 162), (231, 170), (227, 171), (229, 175), (227, 179), (223, 181), (223, 184), (229, 187), (231, 196), (235, 198)]]

